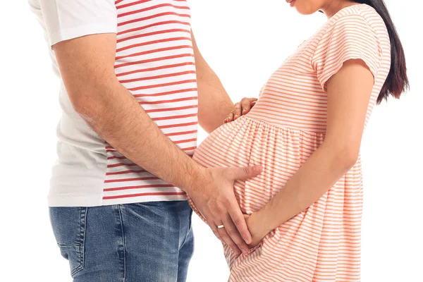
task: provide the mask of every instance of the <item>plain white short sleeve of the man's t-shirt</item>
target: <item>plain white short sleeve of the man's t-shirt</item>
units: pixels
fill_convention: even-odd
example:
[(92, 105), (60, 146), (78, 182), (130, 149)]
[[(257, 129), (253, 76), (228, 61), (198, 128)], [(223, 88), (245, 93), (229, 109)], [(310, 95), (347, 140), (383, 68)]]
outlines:
[(49, 44), (84, 35), (117, 32), (112, 0), (40, 0)]

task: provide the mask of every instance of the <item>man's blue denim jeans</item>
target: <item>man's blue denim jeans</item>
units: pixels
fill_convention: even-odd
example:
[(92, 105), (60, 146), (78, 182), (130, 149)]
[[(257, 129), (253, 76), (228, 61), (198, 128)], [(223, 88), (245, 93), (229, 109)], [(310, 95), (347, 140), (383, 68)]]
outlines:
[(74, 282), (183, 282), (194, 238), (187, 201), (51, 207)]

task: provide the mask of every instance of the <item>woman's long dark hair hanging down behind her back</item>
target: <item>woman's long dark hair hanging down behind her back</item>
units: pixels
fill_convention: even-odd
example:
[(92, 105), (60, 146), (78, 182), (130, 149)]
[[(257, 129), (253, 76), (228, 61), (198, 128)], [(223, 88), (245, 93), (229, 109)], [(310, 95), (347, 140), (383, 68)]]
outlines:
[(389, 71), (388, 78), (386, 78), (381, 93), (377, 98), (377, 103), (380, 104), (382, 100), (388, 99), (389, 95), (399, 98), (400, 95), (409, 87), (407, 65), (405, 63), (403, 44), (401, 44), (400, 37), (398, 36), (395, 25), (392, 22), (391, 15), (389, 15), (388, 8), (386, 8), (384, 0), (352, 1), (372, 6), (384, 20), (388, 30), (389, 39), (391, 39), (391, 70)]

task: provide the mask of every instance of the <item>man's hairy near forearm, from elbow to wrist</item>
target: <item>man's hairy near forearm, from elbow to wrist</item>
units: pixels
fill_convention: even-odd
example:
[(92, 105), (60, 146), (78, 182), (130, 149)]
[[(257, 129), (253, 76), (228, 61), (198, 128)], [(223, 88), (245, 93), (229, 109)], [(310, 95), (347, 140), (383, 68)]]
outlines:
[(75, 109), (90, 127), (135, 164), (189, 190), (202, 168), (166, 137), (117, 80), (92, 89)]

